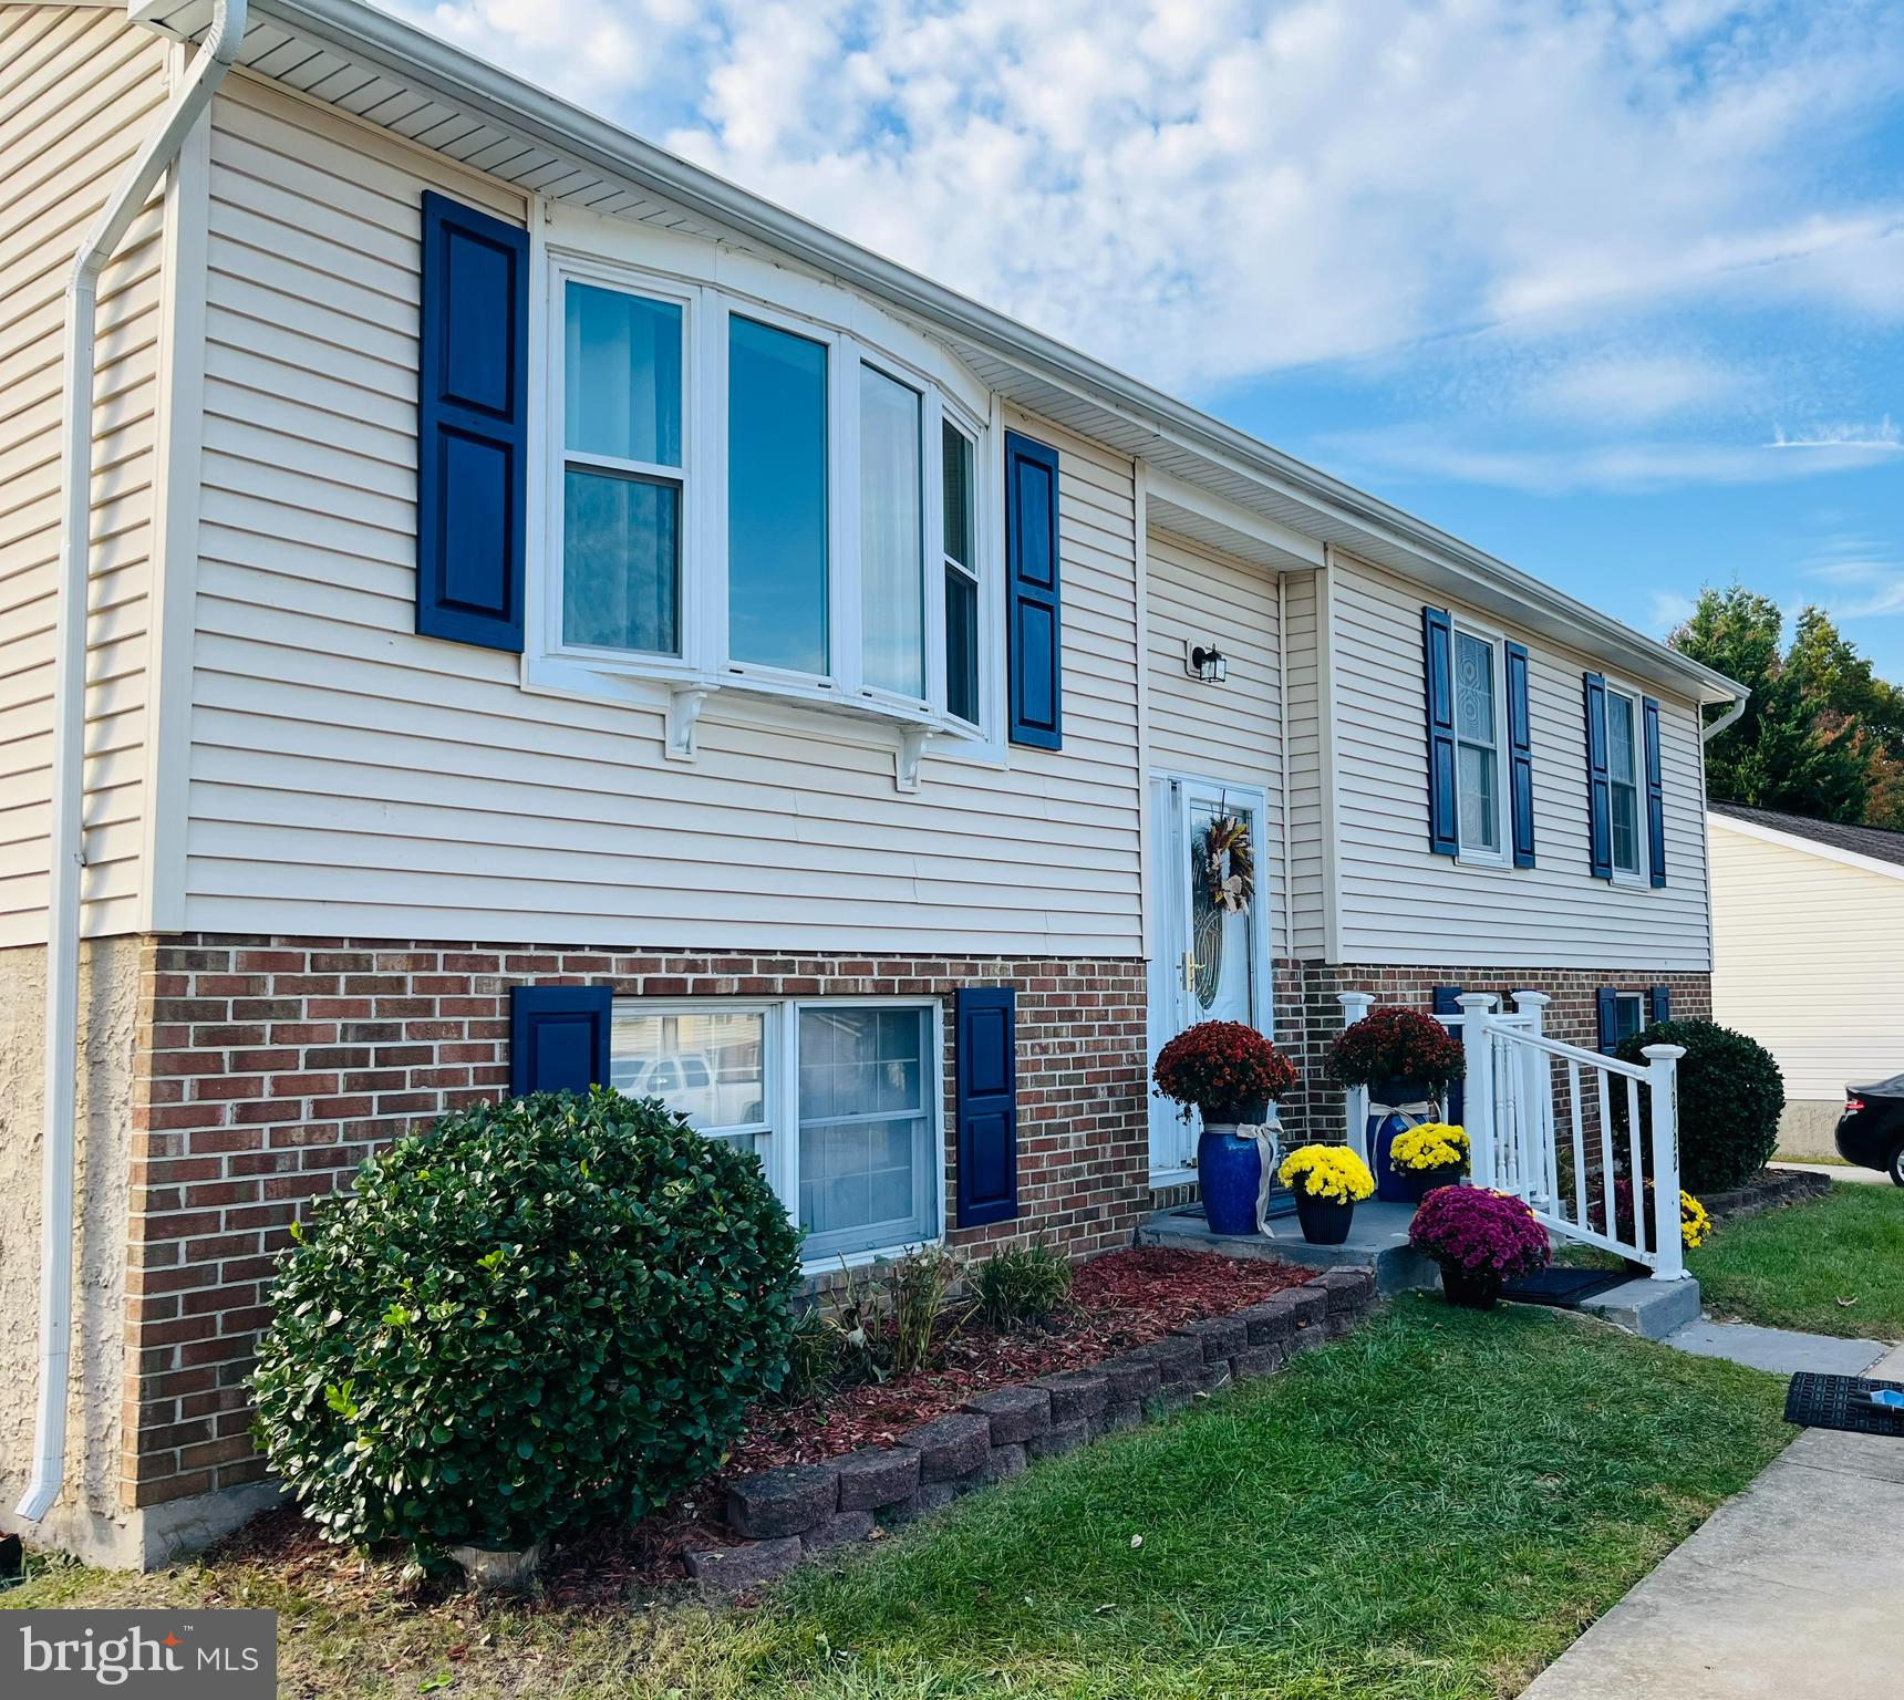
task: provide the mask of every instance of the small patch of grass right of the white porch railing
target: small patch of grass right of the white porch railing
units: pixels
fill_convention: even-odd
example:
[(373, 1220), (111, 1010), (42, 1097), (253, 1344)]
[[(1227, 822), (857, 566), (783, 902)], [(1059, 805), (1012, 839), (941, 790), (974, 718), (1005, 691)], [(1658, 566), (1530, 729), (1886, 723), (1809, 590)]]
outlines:
[(1714, 1315), (1900, 1340), (1904, 1188), (1834, 1182), (1820, 1199), (1723, 1222), (1687, 1268)]

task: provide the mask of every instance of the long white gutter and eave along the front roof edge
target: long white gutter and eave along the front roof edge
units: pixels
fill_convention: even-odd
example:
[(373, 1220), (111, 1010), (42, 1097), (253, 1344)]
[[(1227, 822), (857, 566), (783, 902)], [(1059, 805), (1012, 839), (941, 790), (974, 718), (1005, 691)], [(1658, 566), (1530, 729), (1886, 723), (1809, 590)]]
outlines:
[[(128, 8), (139, 10), (141, 0), (128, 0)], [(1700, 702), (1733, 702), (1744, 697), (1744, 685), (1725, 674), (1679, 655), (1656, 638), (1636, 632), (1611, 615), (1544, 584), (1531, 573), (1523, 573), (1519, 567), (1512, 567), (1367, 491), (1272, 449), (1247, 432), (1224, 425), (1220, 419), (1213, 419), (1209, 413), (1201, 413), (1175, 396), (1061, 343), (1057, 337), (1034, 331), (996, 308), (935, 284), (897, 261), (802, 219), (798, 213), (786, 211), (701, 166), (691, 166), (621, 126), (499, 70), (474, 53), (390, 17), (364, 0), (257, 0), (253, 15), (270, 15), (293, 29), (308, 29), (312, 34), (327, 36), (367, 59), (383, 59), (396, 70), (423, 69), (451, 89), (459, 101), (533, 133), (539, 141), (554, 145), (558, 152), (575, 154), (596, 168), (628, 177), (687, 211), (792, 253), (941, 331), (986, 343), (998, 356), (1028, 367), (1036, 377), (1061, 388), (1081, 390), (1087, 400), (1131, 417), (1161, 438), (1171, 438), (1205, 459), (1312, 506), (1331, 510), (1365, 535), (1472, 575), (1497, 594), (1582, 626), (1603, 643), (1651, 662), (1656, 672), (1691, 682), (1693, 695)]]

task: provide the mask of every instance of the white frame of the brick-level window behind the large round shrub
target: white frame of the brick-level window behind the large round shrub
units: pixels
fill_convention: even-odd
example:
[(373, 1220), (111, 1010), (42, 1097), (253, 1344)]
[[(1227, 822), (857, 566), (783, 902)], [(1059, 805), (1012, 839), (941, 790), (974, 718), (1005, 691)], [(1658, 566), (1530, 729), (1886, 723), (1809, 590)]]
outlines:
[[(762, 1106), (765, 1125), (752, 1131), (754, 1150), (775, 1197), (800, 1220), (800, 1013), (803, 1009), (918, 1009), (925, 1013), (922, 1074), (925, 1087), (925, 1184), (931, 1232), (863, 1251), (802, 1256), (802, 1272), (838, 1270), (899, 1256), (918, 1245), (939, 1245), (946, 1232), (944, 1129), (944, 1005), (937, 998), (617, 998), (628, 1015), (760, 1015)], [(609, 1022), (613, 1032), (613, 1020)], [(737, 1129), (739, 1131), (739, 1129)]]

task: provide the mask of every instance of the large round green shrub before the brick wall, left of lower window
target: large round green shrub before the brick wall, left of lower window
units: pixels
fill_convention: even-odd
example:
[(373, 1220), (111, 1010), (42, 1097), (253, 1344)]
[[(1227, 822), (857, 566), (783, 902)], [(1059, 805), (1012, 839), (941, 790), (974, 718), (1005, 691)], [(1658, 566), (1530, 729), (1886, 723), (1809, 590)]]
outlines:
[(657, 1100), (457, 1110), (284, 1256), (251, 1384), (270, 1468), (331, 1540), (638, 1517), (779, 1386), (798, 1243), (760, 1161)]

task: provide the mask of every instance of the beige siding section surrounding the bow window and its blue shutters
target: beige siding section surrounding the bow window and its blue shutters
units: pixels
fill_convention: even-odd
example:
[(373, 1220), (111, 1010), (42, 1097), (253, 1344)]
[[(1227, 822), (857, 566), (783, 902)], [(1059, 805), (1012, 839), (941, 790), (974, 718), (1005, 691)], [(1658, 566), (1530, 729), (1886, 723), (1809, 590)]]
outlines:
[[(526, 691), (413, 634), (419, 198), (518, 196), (248, 80), (215, 103), (187, 923), (733, 950), (1140, 954), (1131, 463), (1061, 453), (1064, 748), (1009, 765), (716, 695)], [(543, 569), (531, 546), (531, 583)], [(533, 592), (531, 592), (533, 594)]]

